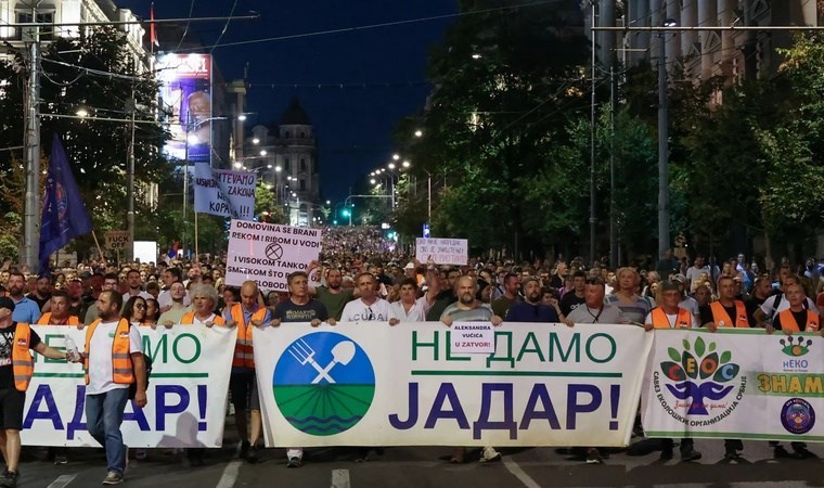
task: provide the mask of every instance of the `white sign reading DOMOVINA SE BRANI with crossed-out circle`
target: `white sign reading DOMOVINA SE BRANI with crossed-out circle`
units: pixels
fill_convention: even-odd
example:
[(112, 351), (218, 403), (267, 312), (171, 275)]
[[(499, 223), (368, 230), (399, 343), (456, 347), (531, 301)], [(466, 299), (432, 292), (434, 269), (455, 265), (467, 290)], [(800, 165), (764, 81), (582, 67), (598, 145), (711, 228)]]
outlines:
[(226, 282), (240, 286), (252, 280), (260, 290), (286, 292), (286, 278), (306, 271), (320, 252), (320, 229), (232, 220)]

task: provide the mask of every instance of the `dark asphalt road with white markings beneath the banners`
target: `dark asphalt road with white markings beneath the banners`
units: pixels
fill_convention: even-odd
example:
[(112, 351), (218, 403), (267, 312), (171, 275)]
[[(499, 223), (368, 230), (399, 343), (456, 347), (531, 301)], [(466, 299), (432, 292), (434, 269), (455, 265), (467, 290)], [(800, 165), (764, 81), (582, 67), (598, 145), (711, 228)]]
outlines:
[[(150, 450), (145, 460), (130, 460), (126, 473), (129, 487), (231, 488), (365, 488), (365, 487), (809, 487), (824, 486), (824, 464), (820, 459), (773, 459), (767, 442), (746, 441), (745, 458), (725, 462), (721, 440), (697, 440), (704, 453), (697, 462), (675, 459), (660, 462), (654, 440), (642, 440), (630, 451), (613, 452), (604, 464), (585, 464), (581, 459), (550, 448), (503, 449), (495, 463), (449, 464), (449, 448), (388, 448), (372, 453), (369, 461), (356, 462), (353, 449), (307, 450), (305, 465), (286, 468), (285, 450), (267, 449), (260, 462), (236, 459), (233, 427), (227, 426), (224, 448), (206, 452), (205, 465), (190, 467), (180, 455)], [(648, 449), (646, 449), (648, 447)], [(811, 445), (824, 457), (824, 445)], [(44, 449), (27, 449), (21, 465), (18, 486), (38, 488), (82, 488), (100, 486), (105, 476), (105, 458), (100, 449), (73, 449), (69, 462), (54, 465), (46, 461)]]

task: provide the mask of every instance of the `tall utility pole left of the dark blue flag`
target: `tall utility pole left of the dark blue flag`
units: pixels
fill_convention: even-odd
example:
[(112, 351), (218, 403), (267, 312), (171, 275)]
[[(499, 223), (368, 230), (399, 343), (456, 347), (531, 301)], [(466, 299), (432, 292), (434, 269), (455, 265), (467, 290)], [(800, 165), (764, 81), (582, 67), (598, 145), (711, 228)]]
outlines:
[[(37, 7), (31, 9), (37, 22)], [(26, 197), (23, 219), (23, 262), (37, 272), (40, 253), (40, 27), (24, 29), (29, 46), (28, 90), (26, 91)]]

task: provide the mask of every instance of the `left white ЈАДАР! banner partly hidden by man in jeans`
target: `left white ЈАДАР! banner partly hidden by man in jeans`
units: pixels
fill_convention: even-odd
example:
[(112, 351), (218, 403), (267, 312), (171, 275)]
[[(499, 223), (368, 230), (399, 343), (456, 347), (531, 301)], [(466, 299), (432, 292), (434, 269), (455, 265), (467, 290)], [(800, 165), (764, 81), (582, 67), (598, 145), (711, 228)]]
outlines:
[[(82, 349), (86, 330), (34, 325), (49, 346), (62, 349), (66, 335)], [(144, 351), (153, 358), (149, 403), (126, 406), (124, 439), (130, 447), (220, 447), (236, 331), (203, 325), (167, 330), (140, 328)], [(23, 444), (99, 446), (86, 426), (86, 385), (81, 363), (35, 355), (35, 376), (26, 393)]]

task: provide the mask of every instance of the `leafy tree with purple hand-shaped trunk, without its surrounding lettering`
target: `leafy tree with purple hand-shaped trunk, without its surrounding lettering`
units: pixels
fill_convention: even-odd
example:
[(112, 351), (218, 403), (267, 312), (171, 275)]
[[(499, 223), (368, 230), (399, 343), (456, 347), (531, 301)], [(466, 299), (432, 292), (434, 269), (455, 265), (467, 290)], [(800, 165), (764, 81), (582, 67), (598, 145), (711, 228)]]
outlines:
[(664, 374), (675, 382), (674, 385), (667, 385), (667, 388), (679, 400), (693, 399), (687, 414), (707, 415), (705, 399), (724, 398), (733, 389), (732, 385), (724, 384), (738, 375), (739, 367), (730, 362), (733, 355), (729, 350), (719, 355), (716, 343), (707, 346), (704, 338), (697, 337), (692, 345), (687, 339), (682, 344), (682, 351), (674, 347), (667, 349), (672, 361), (661, 362)]

